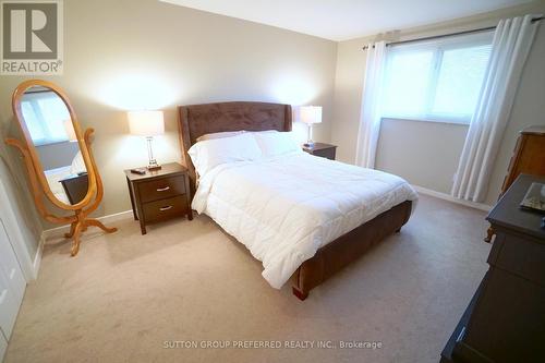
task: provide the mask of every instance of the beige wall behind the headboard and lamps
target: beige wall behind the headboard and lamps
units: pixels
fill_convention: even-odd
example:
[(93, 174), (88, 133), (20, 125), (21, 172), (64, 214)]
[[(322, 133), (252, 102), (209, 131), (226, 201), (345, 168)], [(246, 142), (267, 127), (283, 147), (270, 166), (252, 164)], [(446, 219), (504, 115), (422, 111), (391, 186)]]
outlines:
[[(83, 126), (96, 130), (94, 153), (106, 192), (98, 215), (110, 215), (131, 207), (123, 169), (147, 164), (144, 140), (128, 135), (126, 110), (165, 110), (167, 133), (155, 143), (159, 162), (180, 160), (178, 105), (322, 105), (315, 138), (328, 142), (336, 56), (334, 41), (156, 0), (70, 0), (64, 74), (46, 78), (66, 90)], [(15, 130), (11, 93), (23, 80), (0, 80), (9, 133)]]

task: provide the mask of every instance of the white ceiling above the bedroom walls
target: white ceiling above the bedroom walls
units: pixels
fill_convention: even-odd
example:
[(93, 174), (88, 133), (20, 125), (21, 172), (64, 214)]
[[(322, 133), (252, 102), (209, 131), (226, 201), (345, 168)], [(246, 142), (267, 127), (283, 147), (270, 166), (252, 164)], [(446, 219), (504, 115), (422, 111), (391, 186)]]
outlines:
[(161, 0), (331, 40), (433, 24), (532, 0)]

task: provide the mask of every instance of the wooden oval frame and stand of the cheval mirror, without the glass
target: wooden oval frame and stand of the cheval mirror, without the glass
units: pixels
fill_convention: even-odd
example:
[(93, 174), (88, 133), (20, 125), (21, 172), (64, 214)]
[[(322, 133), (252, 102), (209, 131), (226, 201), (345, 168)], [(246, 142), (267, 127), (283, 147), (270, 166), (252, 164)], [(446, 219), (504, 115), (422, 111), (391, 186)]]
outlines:
[[(87, 194), (82, 201), (74, 205), (65, 204), (59, 201), (51, 192), (44, 172), (44, 168), (41, 167), (41, 161), (39, 160), (31, 133), (28, 131), (28, 128), (26, 126), (26, 122), (24, 121), (23, 112), (21, 109), (21, 100), (25, 92), (33, 86), (40, 86), (55, 92), (62, 99), (70, 112), (70, 118), (72, 119), (72, 125), (77, 138), (80, 152), (82, 153), (83, 160), (85, 162), (85, 168), (87, 169), (88, 178)], [(64, 237), (73, 238), (71, 255), (75, 256), (80, 251), (80, 237), (83, 231), (87, 230), (87, 227), (95, 226), (107, 233), (116, 232), (117, 228), (107, 228), (99, 220), (95, 218), (88, 218), (88, 215), (98, 208), (104, 196), (102, 181), (100, 179), (100, 173), (98, 172), (98, 169), (96, 167), (95, 158), (90, 148), (90, 136), (93, 135), (94, 130), (87, 129), (84, 133), (82, 133), (80, 122), (77, 121), (74, 109), (70, 104), (66, 94), (60, 87), (48, 81), (25, 81), (21, 83), (13, 92), (12, 109), (15, 119), (17, 120), (19, 130), (24, 136), (25, 142), (21, 142), (16, 138), (5, 138), (5, 143), (8, 145), (16, 147), (23, 155), (26, 171), (28, 173), (31, 191), (36, 204), (36, 208), (38, 209), (41, 217), (53, 223), (70, 223), (70, 232), (65, 233)], [(74, 215), (57, 216), (50, 213), (44, 204), (44, 195), (46, 195), (46, 197), (56, 207), (62, 210), (73, 211)]]

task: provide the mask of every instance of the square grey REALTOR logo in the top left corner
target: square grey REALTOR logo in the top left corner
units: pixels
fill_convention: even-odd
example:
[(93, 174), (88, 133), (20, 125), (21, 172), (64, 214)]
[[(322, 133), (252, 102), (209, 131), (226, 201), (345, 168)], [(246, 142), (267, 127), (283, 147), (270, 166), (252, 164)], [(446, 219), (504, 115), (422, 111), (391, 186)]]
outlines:
[(0, 74), (62, 73), (62, 2), (1, 1)]

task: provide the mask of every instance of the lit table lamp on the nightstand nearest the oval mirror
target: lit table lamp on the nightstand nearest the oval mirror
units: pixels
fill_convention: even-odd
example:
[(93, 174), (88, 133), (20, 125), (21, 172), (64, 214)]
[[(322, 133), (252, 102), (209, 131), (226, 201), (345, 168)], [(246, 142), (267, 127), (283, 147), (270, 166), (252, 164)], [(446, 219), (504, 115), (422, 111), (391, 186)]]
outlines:
[(165, 120), (162, 111), (130, 111), (129, 130), (132, 135), (144, 136), (147, 141), (147, 170), (158, 170), (161, 168), (154, 158), (153, 142), (154, 136), (165, 133)]

